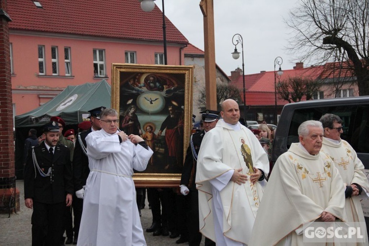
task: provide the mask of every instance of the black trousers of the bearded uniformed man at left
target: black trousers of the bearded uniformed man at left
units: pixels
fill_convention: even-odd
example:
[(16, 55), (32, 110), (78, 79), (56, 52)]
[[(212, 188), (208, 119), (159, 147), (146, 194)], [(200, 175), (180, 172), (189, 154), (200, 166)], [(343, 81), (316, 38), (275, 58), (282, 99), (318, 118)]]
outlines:
[(32, 246), (58, 246), (63, 235), (65, 203), (45, 204), (33, 201)]

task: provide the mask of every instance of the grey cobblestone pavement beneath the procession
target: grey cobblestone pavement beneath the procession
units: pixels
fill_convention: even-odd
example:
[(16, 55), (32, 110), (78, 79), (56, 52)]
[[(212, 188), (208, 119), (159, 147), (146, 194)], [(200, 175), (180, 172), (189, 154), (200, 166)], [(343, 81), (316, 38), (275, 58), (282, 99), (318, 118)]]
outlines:
[[(31, 245), (31, 215), (32, 210), (24, 205), (23, 180), (17, 180), (16, 186), (20, 192), (20, 211), (17, 214), (0, 214), (0, 245), (1, 246), (30, 246)], [(147, 202), (147, 201), (146, 201)], [(152, 233), (145, 232), (151, 226), (152, 214), (147, 205), (141, 210), (141, 224), (144, 228), (144, 235), (148, 246), (174, 246), (179, 238), (171, 239), (169, 236), (153, 236)], [(180, 244), (188, 245), (188, 243)], [(204, 245), (204, 238), (201, 246)]]

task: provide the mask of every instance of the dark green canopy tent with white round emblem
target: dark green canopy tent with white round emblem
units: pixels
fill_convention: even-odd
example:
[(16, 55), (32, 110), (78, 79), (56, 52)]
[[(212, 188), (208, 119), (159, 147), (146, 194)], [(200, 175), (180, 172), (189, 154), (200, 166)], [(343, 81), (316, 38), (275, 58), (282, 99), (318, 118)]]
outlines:
[[(50, 121), (53, 116), (61, 117), (66, 127), (77, 130), (89, 116), (89, 110), (99, 106), (110, 107), (111, 88), (106, 80), (97, 83), (86, 83), (79, 86), (68, 86), (59, 95), (44, 105), (15, 117), (15, 171), (17, 179), (23, 178), (24, 141), (31, 128), (41, 135), (41, 126)], [(76, 131), (77, 132), (77, 131)]]

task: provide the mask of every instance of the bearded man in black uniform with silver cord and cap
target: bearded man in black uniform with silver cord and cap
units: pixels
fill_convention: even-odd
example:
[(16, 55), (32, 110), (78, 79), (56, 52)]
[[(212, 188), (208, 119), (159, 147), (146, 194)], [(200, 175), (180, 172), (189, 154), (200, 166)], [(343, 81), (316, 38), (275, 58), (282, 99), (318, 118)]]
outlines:
[(44, 125), (45, 140), (30, 150), (24, 169), (25, 205), (33, 209), (32, 246), (60, 245), (64, 207), (72, 204), (70, 154), (59, 136), (58, 123)]

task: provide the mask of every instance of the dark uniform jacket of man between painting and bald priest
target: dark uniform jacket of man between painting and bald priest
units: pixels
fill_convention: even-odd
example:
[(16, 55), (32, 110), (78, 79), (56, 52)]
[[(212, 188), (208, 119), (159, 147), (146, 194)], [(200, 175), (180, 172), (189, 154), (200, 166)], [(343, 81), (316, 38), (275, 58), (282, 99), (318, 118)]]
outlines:
[[(196, 155), (199, 154), (202, 139), (205, 136), (205, 131), (198, 131), (192, 134), (193, 147)], [(182, 169), (181, 184), (189, 186), (190, 189), (196, 189), (196, 166), (197, 161), (192, 156), (191, 143), (188, 145), (186, 157), (184, 159), (184, 166)]]

